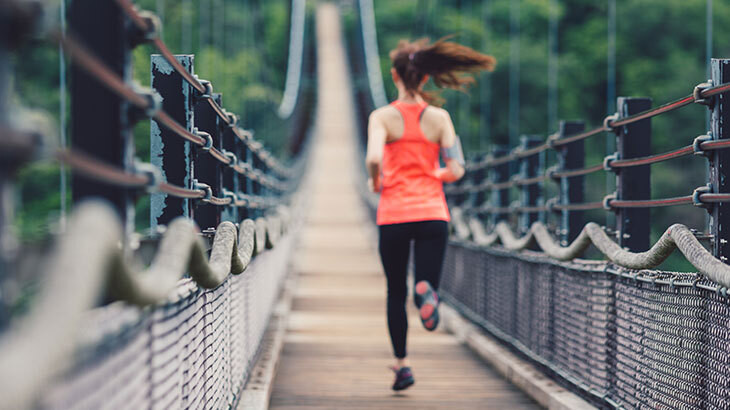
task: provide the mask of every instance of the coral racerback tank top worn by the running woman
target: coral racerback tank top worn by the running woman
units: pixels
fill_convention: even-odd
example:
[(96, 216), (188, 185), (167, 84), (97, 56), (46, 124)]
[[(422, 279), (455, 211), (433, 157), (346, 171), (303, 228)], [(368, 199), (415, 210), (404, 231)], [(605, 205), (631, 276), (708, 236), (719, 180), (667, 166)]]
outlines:
[(449, 221), (443, 184), (435, 175), (440, 146), (423, 135), (420, 125), (428, 103), (391, 105), (403, 117), (403, 136), (385, 144), (377, 224)]

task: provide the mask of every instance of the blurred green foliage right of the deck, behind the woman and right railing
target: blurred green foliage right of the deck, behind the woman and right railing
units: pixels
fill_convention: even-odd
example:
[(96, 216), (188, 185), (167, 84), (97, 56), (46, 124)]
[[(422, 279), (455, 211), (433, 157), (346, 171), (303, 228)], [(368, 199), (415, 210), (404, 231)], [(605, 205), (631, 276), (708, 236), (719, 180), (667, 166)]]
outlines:
[[(518, 2), (515, 4), (515, 2)], [(357, 34), (356, 1), (342, 2), (350, 36)], [(558, 34), (558, 117), (600, 125), (609, 111), (607, 95), (607, 1), (555, 2)], [(616, 95), (651, 97), (655, 105), (683, 97), (706, 79), (706, 0), (617, 0)], [(510, 18), (519, 11), (519, 123), (521, 135), (546, 137), (548, 129), (548, 32), (551, 2), (547, 0), (374, 0), (380, 64), (389, 99), (396, 98), (388, 52), (399, 39), (431, 40), (455, 34), (454, 41), (498, 60), (497, 69), (479, 77), (469, 93), (446, 91), (444, 108), (451, 112), (467, 154), (486, 152), (509, 141)], [(517, 6), (517, 7), (515, 7)], [(730, 57), (730, 8), (716, 2), (713, 13), (713, 57)], [(350, 44), (354, 44), (351, 40)], [(356, 79), (356, 84), (366, 80)], [(652, 121), (654, 152), (692, 143), (705, 133), (706, 109), (690, 106)], [(586, 141), (586, 165), (606, 155), (605, 134)], [(612, 146), (612, 144), (608, 144)], [(551, 165), (552, 155), (548, 157)], [(706, 183), (706, 161), (683, 158), (652, 166), (653, 198), (682, 196)], [(548, 185), (547, 197), (556, 189)], [(612, 191), (603, 174), (586, 181), (586, 200), (597, 201)], [(518, 193), (512, 194), (516, 198)], [(606, 223), (604, 212), (587, 218)], [(652, 211), (652, 241), (681, 221), (704, 230), (706, 212), (692, 206)], [(681, 255), (664, 269), (693, 270)]]

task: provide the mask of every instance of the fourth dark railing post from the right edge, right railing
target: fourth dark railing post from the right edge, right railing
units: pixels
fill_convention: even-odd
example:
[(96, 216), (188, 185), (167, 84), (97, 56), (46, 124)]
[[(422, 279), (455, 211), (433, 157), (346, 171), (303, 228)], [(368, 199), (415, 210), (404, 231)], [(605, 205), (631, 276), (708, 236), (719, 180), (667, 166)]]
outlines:
[[(544, 139), (535, 135), (523, 135), (520, 137), (520, 148), (527, 150), (544, 143)], [(520, 160), (520, 178), (534, 178), (543, 168), (542, 153), (530, 155)], [(542, 201), (542, 182), (525, 184), (520, 187), (520, 205), (523, 207), (534, 207)], [(544, 212), (520, 212), (519, 230), (525, 233), (530, 230), (533, 222), (544, 220)]]

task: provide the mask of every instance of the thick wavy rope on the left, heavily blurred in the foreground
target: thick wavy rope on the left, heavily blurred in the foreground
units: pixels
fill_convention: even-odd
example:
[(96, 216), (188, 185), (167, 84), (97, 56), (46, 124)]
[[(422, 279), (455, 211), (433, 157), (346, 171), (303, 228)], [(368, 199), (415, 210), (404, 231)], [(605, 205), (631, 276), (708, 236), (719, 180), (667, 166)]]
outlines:
[[(278, 233), (268, 234), (273, 231)], [(78, 205), (55, 243), (32, 311), (0, 338), (0, 408), (30, 408), (39, 387), (68, 368), (84, 313), (105, 294), (138, 306), (164, 302), (186, 272), (200, 287), (215, 288), (229, 273), (242, 273), (256, 253), (273, 245), (268, 238), (280, 233), (275, 217), (246, 219), (238, 230), (223, 222), (207, 258), (196, 225), (178, 218), (163, 234), (150, 267), (138, 273), (123, 257), (115, 212), (101, 202)]]

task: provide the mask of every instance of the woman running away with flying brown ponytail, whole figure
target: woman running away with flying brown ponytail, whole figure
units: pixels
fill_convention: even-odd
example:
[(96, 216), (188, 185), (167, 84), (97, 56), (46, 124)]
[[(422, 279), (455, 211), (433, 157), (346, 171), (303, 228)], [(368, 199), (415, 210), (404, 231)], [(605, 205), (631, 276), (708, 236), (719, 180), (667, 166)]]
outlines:
[[(390, 72), (398, 99), (370, 114), (366, 165), (368, 185), (380, 192), (377, 224), (380, 258), (388, 283), (388, 330), (396, 374), (393, 390), (414, 383), (406, 361), (406, 274), (414, 243), (415, 292), (423, 326), (438, 325), (441, 277), (448, 239), (449, 210), (443, 182), (464, 175), (464, 155), (449, 113), (435, 107), (438, 98), (423, 91), (429, 78), (439, 88), (463, 90), (470, 73), (493, 70), (495, 59), (460, 44), (427, 39), (401, 40), (390, 52)], [(439, 166), (439, 152), (445, 167)]]

